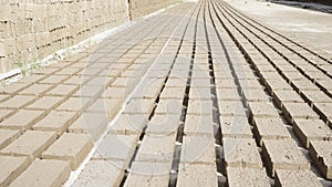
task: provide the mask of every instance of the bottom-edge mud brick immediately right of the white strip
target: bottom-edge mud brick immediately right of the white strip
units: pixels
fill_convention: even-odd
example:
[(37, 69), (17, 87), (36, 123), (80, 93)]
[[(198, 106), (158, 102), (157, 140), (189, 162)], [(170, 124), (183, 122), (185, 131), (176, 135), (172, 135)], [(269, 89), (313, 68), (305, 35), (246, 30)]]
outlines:
[(90, 160), (73, 187), (120, 186), (123, 177), (124, 166), (122, 162)]

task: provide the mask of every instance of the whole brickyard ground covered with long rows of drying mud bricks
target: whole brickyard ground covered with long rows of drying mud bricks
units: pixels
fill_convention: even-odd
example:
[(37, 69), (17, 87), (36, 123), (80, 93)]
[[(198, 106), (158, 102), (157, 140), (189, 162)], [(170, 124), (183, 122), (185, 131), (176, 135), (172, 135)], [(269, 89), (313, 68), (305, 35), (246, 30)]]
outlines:
[(0, 186), (331, 186), (332, 15), (293, 34), (240, 2), (179, 2), (3, 86)]

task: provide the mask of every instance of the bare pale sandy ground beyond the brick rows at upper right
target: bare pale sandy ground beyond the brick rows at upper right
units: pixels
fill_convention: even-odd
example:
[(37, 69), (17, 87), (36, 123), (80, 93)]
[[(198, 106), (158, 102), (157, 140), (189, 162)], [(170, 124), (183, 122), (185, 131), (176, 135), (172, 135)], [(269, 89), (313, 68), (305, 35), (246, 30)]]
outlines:
[(332, 14), (257, 0), (225, 0), (247, 15), (332, 58)]

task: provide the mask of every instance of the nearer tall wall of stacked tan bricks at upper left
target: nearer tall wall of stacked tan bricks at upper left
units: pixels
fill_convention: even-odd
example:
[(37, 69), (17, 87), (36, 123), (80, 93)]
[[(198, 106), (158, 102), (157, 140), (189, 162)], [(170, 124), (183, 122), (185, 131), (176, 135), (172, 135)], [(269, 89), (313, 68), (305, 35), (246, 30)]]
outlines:
[(126, 0), (2, 0), (0, 73), (127, 21)]

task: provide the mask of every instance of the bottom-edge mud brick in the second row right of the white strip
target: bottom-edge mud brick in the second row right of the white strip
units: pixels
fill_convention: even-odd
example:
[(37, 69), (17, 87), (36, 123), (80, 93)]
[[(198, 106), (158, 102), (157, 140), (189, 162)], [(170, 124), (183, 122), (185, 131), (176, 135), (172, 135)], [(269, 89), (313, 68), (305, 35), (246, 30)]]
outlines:
[(167, 186), (169, 173), (168, 163), (134, 162), (124, 186)]

